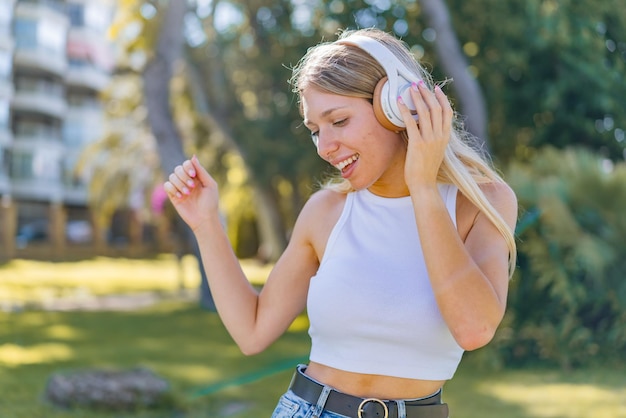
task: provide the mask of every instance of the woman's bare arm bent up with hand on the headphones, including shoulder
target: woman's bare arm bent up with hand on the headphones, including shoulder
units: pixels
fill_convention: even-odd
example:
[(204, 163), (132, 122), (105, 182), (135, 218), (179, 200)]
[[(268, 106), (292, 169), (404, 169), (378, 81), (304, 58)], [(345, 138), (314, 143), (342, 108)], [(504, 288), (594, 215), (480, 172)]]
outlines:
[[(451, 135), (453, 111), (441, 89), (413, 88), (419, 124), (405, 106), (409, 136), (405, 180), (409, 187), (426, 267), (439, 309), (456, 341), (466, 350), (489, 342), (500, 324), (508, 289), (508, 248), (496, 227), (473, 205), (461, 205), (457, 219), (471, 223), (464, 239), (437, 190), (437, 173)], [(481, 186), (511, 229), (517, 199), (504, 183)], [(459, 199), (465, 199), (459, 195)]]

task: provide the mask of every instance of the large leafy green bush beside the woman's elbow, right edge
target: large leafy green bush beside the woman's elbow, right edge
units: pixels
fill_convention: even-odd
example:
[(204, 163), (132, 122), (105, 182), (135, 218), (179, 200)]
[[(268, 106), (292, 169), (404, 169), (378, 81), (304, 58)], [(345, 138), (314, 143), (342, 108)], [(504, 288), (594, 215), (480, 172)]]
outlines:
[(584, 149), (538, 152), (507, 171), (525, 214), (501, 355), (564, 367), (626, 352), (626, 164)]

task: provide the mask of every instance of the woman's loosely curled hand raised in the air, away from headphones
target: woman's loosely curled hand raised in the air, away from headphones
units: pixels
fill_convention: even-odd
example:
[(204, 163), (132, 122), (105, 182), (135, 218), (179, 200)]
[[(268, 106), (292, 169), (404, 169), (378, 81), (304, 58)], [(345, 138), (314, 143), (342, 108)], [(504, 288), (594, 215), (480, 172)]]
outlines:
[(210, 219), (219, 219), (217, 183), (194, 155), (174, 169), (163, 185), (174, 208), (195, 232)]

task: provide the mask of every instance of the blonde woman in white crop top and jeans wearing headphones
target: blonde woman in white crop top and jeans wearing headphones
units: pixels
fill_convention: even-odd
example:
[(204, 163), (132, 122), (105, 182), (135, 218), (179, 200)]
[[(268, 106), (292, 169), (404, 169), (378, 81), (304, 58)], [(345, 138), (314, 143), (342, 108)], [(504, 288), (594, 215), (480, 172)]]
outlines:
[(260, 293), (198, 160), (165, 183), (195, 233), (220, 317), (254, 354), (307, 308), (310, 361), (274, 418), (446, 418), (444, 383), (504, 315), (515, 195), (395, 37), (343, 32), (311, 48), (291, 82), (317, 153), (340, 177), (306, 203)]

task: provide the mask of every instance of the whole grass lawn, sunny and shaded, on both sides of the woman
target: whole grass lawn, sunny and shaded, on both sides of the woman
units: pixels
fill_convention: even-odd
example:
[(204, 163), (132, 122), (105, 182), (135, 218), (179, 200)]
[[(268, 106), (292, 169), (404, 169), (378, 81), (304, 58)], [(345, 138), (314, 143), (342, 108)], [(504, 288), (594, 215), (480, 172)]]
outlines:
[[(261, 283), (266, 269), (246, 262)], [(176, 297), (173, 257), (78, 263), (15, 260), (0, 266), (0, 417), (263, 418), (306, 360), (299, 318), (266, 352), (243, 356), (217, 314)], [(183, 281), (195, 289), (193, 259)], [(152, 293), (159, 301), (126, 311), (54, 311), (54, 300)], [(626, 418), (626, 375), (615, 368), (490, 371), (473, 353), (445, 388), (454, 418)], [(53, 407), (42, 397), (53, 373), (88, 367), (148, 367), (171, 384), (175, 402), (120, 414)]]

